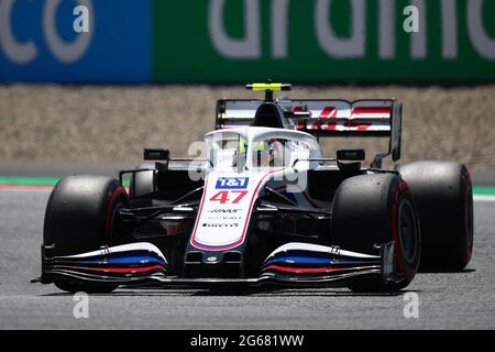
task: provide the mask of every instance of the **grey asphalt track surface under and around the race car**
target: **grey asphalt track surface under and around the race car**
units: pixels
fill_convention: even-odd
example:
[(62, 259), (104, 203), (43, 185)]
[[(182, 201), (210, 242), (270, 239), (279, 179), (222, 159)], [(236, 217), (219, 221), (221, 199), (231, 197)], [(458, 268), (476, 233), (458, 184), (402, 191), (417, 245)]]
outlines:
[[(462, 273), (419, 274), (398, 295), (342, 289), (209, 292), (118, 289), (89, 296), (76, 319), (73, 296), (31, 284), (40, 274), (47, 190), (0, 190), (0, 329), (494, 329), (495, 202), (475, 200), (475, 250)], [(441, 253), (439, 253), (439, 256)], [(405, 318), (407, 293), (419, 318)]]

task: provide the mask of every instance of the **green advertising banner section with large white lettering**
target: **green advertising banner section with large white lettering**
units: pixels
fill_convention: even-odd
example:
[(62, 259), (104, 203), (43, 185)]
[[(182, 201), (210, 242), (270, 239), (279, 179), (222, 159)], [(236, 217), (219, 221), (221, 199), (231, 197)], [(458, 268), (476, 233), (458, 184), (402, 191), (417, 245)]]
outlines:
[(154, 2), (155, 81), (495, 78), (495, 1)]

